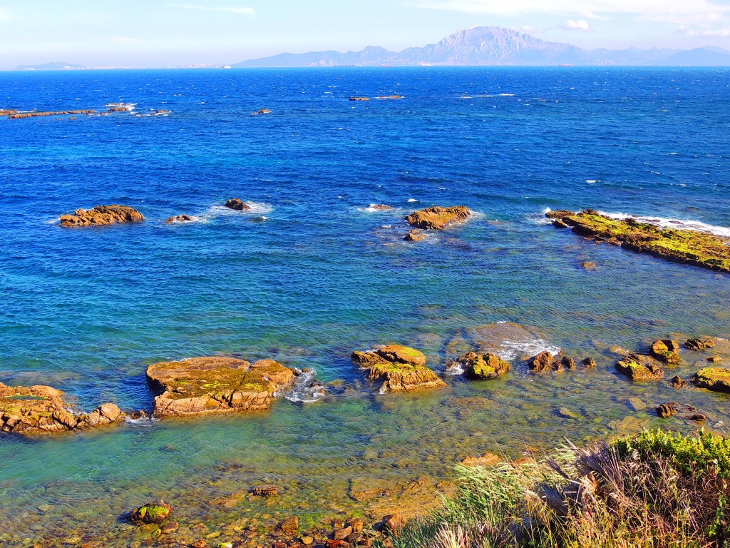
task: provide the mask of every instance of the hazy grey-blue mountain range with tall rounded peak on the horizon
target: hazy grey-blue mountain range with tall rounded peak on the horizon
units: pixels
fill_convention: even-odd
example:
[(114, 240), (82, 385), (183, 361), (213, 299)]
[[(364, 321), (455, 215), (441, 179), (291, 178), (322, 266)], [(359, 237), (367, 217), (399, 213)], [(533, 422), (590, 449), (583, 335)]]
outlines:
[[(726, 59), (727, 58), (727, 59)], [(650, 66), (729, 66), (730, 52), (722, 48), (704, 47), (680, 51), (652, 48), (639, 50), (584, 50), (583, 48), (545, 42), (539, 38), (496, 26), (477, 26), (446, 37), (438, 44), (409, 47), (395, 52), (383, 47), (368, 46), (347, 53), (320, 51), (281, 53), (273, 57), (252, 59), (232, 65), (246, 67), (286, 66), (417, 66), (417, 65), (650, 65)]]

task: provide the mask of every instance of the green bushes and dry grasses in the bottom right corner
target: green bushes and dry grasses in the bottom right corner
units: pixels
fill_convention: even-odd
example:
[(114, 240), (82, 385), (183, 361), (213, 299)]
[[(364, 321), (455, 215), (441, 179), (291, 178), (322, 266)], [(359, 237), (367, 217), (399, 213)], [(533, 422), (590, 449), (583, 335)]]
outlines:
[(730, 440), (704, 430), (457, 471), (454, 495), (396, 548), (730, 547)]

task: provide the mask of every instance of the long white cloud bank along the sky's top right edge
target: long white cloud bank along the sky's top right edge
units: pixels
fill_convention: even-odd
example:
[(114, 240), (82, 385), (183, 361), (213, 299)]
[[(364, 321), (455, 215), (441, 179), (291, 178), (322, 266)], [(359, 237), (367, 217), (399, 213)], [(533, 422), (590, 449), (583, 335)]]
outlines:
[(633, 15), (675, 24), (707, 24), (730, 15), (724, 0), (415, 0), (418, 7), (494, 15)]

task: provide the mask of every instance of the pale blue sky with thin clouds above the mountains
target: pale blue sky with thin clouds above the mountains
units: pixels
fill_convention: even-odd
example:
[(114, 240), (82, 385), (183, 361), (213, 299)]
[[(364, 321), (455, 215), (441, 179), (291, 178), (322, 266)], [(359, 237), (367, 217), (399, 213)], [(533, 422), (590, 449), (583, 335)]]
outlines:
[(0, 0), (0, 69), (234, 64), (504, 26), (587, 49), (730, 50), (730, 0)]

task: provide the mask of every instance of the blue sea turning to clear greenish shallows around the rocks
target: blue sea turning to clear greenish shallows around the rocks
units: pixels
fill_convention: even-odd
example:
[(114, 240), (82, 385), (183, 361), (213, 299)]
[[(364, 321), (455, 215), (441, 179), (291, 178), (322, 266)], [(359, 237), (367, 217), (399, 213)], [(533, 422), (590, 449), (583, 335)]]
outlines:
[[(591, 207), (730, 227), (726, 69), (1, 73), (0, 84), (0, 107), (172, 110), (0, 119), (0, 381), (51, 384), (85, 408), (147, 408), (146, 365), (240, 354), (356, 387), (261, 416), (0, 438), (11, 535), (0, 543), (82, 526), (125, 546), (135, 533), (118, 516), (150, 497), (211, 527), (294, 506), (316, 520), (366, 506), (354, 480), (439, 479), (469, 454), (637, 427), (616, 424), (626, 416), (666, 425), (650, 411), (678, 397), (713, 424), (728, 412), (726, 397), (630, 384), (607, 353), (672, 333), (730, 337), (728, 276), (542, 221), (545, 208)], [(404, 99), (347, 100), (389, 94)], [(272, 114), (251, 115), (260, 108)], [(221, 208), (231, 197), (255, 213)], [(54, 224), (101, 203), (147, 221)], [(402, 217), (434, 204), (478, 215), (403, 242)], [(180, 213), (200, 220), (164, 223)], [(491, 321), (526, 324), (599, 368), (534, 378), (516, 364), (504, 381), (447, 378), (450, 390), (411, 399), (364, 395), (348, 359), (396, 340), (440, 372), (448, 343)], [(688, 358), (683, 376), (702, 359)], [(649, 408), (632, 411), (631, 396)], [(264, 481), (285, 487), (274, 507), (209, 505)]]

